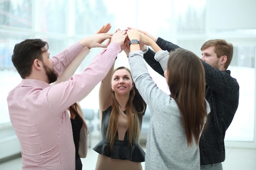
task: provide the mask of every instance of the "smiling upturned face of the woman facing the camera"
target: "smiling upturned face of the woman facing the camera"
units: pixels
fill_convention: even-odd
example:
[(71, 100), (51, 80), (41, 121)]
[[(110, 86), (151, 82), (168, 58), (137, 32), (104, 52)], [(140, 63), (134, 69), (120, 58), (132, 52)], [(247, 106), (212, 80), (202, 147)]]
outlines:
[(129, 95), (133, 88), (132, 76), (126, 69), (119, 69), (112, 75), (111, 85), (117, 95)]

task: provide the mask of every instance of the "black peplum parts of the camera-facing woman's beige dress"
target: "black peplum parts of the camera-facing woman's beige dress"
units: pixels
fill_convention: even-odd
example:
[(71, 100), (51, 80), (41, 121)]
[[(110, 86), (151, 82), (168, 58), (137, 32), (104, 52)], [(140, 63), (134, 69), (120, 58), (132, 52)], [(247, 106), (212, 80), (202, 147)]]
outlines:
[[(93, 148), (93, 150), (95, 150), (101, 155), (105, 155), (107, 157), (114, 158), (114, 159), (122, 159), (122, 160), (128, 159), (134, 162), (144, 162), (145, 151), (141, 148), (138, 141), (136, 141), (136, 143), (133, 144), (133, 146), (130, 146), (130, 144), (128, 144), (127, 130), (124, 137), (124, 141), (120, 141), (118, 139), (118, 133), (117, 133), (112, 152), (109, 149), (110, 143), (106, 141), (106, 135), (107, 135), (108, 122), (109, 122), (111, 110), (112, 110), (112, 107), (110, 106), (107, 110), (102, 112), (102, 121), (101, 121), (102, 140), (99, 142), (99, 144), (97, 144)], [(142, 114), (138, 114), (140, 130), (141, 130), (141, 124), (142, 124), (142, 116), (144, 114), (145, 112)]]

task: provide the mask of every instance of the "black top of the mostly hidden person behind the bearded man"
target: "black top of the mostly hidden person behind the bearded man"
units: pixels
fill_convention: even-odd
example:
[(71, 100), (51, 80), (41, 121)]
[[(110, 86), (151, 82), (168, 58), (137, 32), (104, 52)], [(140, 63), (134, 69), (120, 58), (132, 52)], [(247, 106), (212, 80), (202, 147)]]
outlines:
[(73, 131), (73, 139), (74, 139), (74, 144), (76, 148), (76, 159), (80, 158), (78, 154), (78, 147), (79, 147), (79, 139), (80, 139), (80, 130), (83, 126), (83, 121), (81, 121), (78, 116), (76, 116), (74, 119), (71, 119), (71, 124), (72, 124), (72, 131)]

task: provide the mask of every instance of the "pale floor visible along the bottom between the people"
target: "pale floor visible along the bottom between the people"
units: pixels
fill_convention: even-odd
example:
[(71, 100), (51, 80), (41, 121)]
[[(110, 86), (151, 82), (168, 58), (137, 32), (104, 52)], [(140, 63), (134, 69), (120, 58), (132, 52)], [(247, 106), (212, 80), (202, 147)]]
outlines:
[[(93, 137), (92, 146), (99, 142), (99, 137)], [(145, 144), (141, 144), (145, 149)], [(98, 153), (88, 149), (85, 159), (81, 159), (83, 170), (94, 170)], [(256, 149), (226, 148), (226, 160), (222, 163), (223, 170), (256, 170)], [(144, 162), (142, 163), (144, 169)], [(0, 170), (22, 170), (21, 157), (0, 163)]]

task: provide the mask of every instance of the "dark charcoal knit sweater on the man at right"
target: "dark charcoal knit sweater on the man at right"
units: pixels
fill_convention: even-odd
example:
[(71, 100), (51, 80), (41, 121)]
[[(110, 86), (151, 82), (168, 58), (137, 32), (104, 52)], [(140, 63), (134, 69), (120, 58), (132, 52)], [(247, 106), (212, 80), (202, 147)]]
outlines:
[[(174, 51), (179, 46), (158, 38), (158, 46), (162, 50)], [(155, 52), (151, 49), (144, 54), (145, 61), (160, 75), (164, 72), (159, 62), (154, 59)], [(234, 118), (238, 107), (239, 85), (230, 71), (220, 71), (201, 60), (206, 77), (205, 99), (209, 102), (211, 113), (204, 134), (200, 138), (200, 165), (225, 161), (225, 132)]]

